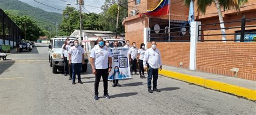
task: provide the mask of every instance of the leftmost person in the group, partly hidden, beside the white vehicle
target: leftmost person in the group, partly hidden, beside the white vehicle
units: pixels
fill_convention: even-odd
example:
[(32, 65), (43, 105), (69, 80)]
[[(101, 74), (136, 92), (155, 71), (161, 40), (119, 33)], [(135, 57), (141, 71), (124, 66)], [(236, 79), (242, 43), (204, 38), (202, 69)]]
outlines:
[(69, 69), (68, 62), (68, 47), (69, 47), (69, 38), (66, 38), (65, 43), (62, 45), (62, 59), (64, 59), (64, 76), (67, 75)]

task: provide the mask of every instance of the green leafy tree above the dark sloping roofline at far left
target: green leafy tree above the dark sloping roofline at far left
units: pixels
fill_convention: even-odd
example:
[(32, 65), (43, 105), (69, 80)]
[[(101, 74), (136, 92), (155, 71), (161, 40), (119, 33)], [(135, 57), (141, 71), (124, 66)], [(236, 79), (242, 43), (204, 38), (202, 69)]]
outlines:
[(10, 15), (8, 12), (6, 14), (14, 21), (23, 32), (25, 31), (26, 25), (26, 40), (36, 41), (40, 36), (44, 36), (44, 32), (36, 24), (31, 17), (28, 16), (15, 16)]

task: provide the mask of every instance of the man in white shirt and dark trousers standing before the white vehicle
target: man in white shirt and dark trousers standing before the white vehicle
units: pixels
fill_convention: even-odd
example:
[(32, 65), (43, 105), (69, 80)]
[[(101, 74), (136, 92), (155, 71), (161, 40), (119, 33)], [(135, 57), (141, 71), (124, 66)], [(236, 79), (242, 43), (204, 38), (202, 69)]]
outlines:
[(78, 83), (83, 84), (81, 81), (81, 68), (82, 64), (84, 64), (84, 49), (79, 46), (78, 40), (76, 39), (74, 42), (75, 46), (72, 46), (69, 49), (69, 64), (72, 65), (72, 84), (76, 84), (76, 73), (78, 77)]

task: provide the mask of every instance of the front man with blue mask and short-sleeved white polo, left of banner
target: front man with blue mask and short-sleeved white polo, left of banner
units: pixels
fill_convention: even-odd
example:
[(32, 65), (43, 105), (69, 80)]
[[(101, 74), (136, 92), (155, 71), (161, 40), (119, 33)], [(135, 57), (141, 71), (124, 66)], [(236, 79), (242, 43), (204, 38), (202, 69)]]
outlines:
[[(90, 63), (92, 67), (92, 73), (95, 75), (95, 100), (99, 99), (99, 82), (100, 77), (103, 79), (104, 94), (103, 96), (107, 99), (110, 98), (107, 93), (107, 77), (112, 67), (112, 55), (109, 48), (104, 46), (103, 38), (97, 39), (98, 46), (91, 50)], [(109, 63), (109, 66), (107, 65)]]

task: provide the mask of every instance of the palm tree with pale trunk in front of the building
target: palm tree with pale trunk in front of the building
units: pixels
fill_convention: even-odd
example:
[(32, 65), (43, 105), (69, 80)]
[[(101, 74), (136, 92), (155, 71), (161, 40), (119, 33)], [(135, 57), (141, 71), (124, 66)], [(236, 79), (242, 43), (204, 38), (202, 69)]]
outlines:
[[(189, 7), (190, 2), (194, 2), (195, 0), (185, 0), (184, 4)], [(205, 13), (206, 7), (211, 6), (213, 3), (216, 5), (216, 9), (218, 11), (219, 16), (219, 22), (220, 22), (220, 28), (221, 28), (221, 34), (223, 35), (222, 39), (226, 40), (225, 34), (225, 25), (223, 21), (223, 15), (221, 12), (221, 8), (223, 8), (224, 11), (235, 9), (237, 12), (240, 11), (240, 7), (244, 6), (245, 3), (247, 3), (248, 0), (197, 0), (197, 11), (201, 13)], [(225, 41), (224, 41), (225, 42)]]

